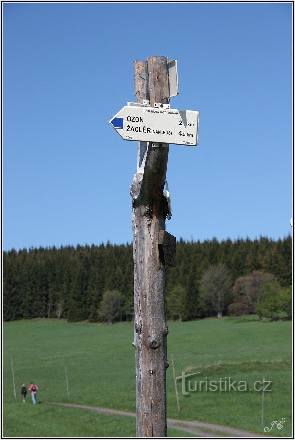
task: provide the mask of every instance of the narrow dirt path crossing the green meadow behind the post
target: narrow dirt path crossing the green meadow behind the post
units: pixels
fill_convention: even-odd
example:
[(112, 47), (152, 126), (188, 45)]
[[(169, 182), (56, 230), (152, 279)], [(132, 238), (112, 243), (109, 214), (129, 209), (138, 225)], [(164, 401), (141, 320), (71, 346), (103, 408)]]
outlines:
[[(55, 403), (52, 405), (68, 406), (71, 408), (82, 408), (84, 410), (95, 411), (100, 414), (115, 416), (135, 417), (135, 413), (129, 411), (112, 410), (109, 408), (100, 408), (98, 406), (74, 405), (71, 403)], [(215, 425), (213, 423), (204, 423), (199, 421), (176, 420), (167, 418), (169, 428), (179, 429), (181, 431), (194, 434), (196, 437), (268, 437), (261, 434), (244, 431), (243, 429), (231, 428), (229, 426)], [(199, 429), (200, 428), (200, 429)]]

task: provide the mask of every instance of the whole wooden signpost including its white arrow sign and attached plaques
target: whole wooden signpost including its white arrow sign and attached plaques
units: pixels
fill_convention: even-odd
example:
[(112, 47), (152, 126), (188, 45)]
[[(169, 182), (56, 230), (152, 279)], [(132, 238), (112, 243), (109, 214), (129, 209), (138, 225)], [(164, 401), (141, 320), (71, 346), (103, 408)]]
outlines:
[(132, 198), (134, 263), (134, 347), (136, 364), (136, 437), (166, 437), (168, 327), (165, 318), (166, 265), (176, 265), (166, 182), (169, 143), (195, 146), (199, 112), (170, 109), (178, 94), (176, 60), (151, 56), (134, 62), (136, 103), (110, 120), (119, 135), (138, 142)]

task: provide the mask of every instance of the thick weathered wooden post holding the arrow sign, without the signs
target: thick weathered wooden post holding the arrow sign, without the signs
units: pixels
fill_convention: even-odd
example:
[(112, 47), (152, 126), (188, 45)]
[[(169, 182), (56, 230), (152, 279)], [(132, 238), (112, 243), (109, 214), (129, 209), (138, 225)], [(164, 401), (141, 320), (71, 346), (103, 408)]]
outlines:
[[(137, 102), (168, 103), (167, 59), (135, 61)], [(147, 75), (148, 72), (148, 75)], [(148, 77), (147, 77), (148, 76)], [(148, 79), (148, 81), (147, 81)], [(149, 95), (149, 96), (148, 96)], [(136, 436), (166, 437), (165, 265), (159, 261), (159, 231), (168, 214), (163, 194), (168, 147), (139, 143), (138, 168), (131, 185), (134, 259), (134, 344), (136, 359)]]

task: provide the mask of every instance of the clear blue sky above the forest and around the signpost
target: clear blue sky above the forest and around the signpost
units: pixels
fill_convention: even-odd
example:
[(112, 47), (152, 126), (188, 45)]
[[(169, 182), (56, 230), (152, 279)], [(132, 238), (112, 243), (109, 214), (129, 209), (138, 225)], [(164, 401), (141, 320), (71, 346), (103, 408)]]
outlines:
[(3, 247), (132, 240), (137, 143), (109, 119), (134, 101), (133, 61), (177, 59), (172, 108), (200, 112), (171, 145), (177, 239), (291, 232), (291, 3), (6, 3)]

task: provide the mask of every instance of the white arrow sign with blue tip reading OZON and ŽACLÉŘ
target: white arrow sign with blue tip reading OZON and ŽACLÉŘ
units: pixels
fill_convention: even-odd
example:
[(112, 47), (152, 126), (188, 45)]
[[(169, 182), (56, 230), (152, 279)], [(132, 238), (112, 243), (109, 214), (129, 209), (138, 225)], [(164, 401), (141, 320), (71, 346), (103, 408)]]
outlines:
[(110, 124), (126, 141), (197, 145), (199, 112), (126, 105)]

